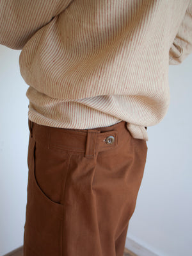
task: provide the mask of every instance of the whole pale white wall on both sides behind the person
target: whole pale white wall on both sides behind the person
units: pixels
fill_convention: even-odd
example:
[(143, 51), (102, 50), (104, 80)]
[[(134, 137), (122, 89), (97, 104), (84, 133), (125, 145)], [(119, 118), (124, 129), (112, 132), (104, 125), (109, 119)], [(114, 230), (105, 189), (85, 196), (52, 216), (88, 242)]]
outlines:
[[(19, 53), (0, 46), (0, 256), (23, 243), (28, 98)], [(191, 254), (192, 55), (170, 66), (170, 108), (148, 128), (147, 164), (127, 237), (159, 256)]]

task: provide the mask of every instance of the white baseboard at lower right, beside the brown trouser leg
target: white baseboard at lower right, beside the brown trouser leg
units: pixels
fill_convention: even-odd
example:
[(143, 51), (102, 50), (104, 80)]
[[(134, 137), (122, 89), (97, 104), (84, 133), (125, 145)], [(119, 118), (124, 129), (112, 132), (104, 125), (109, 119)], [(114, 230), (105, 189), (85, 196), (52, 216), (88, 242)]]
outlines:
[(131, 238), (127, 237), (125, 242), (125, 247), (129, 249), (131, 252), (136, 253), (138, 256), (160, 256), (154, 252), (151, 252), (141, 244), (133, 241)]

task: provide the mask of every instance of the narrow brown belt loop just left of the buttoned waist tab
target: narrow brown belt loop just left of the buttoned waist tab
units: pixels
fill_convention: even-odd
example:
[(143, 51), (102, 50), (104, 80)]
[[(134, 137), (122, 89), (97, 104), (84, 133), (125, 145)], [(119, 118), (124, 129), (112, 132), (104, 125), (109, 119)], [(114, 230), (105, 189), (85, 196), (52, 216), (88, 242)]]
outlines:
[(86, 137), (86, 149), (84, 157), (86, 158), (94, 158), (95, 157), (95, 146), (97, 139), (98, 130), (88, 129), (87, 137)]

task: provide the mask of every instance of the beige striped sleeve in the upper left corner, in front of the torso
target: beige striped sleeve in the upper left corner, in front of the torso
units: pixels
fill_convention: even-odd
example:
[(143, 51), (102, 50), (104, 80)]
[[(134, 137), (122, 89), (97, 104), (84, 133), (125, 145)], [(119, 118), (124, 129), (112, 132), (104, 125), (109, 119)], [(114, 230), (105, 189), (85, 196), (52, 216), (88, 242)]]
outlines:
[(0, 44), (22, 49), (37, 30), (72, 0), (0, 0)]

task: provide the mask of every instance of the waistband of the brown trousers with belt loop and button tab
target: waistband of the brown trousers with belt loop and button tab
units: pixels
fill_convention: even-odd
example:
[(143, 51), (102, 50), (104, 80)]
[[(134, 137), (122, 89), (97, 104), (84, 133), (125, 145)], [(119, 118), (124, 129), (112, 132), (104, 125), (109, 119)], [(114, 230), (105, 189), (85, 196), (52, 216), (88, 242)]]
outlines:
[(93, 158), (99, 151), (109, 150), (131, 139), (126, 122), (93, 129), (65, 129), (36, 124), (29, 120), (30, 136), (49, 149), (84, 154)]

